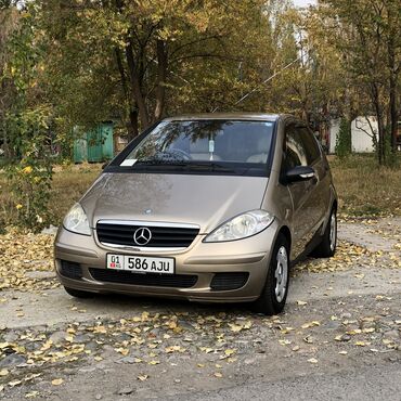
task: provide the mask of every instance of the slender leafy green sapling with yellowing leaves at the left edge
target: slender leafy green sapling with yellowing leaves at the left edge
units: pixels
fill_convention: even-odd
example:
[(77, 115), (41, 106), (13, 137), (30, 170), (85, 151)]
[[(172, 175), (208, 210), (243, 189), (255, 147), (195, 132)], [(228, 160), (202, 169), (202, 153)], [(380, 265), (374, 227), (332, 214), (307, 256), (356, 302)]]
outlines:
[[(18, 14), (7, 41), (9, 60), (1, 82), (13, 87), (14, 99), (3, 111), (2, 126), (12, 158), (5, 167), (11, 190), (9, 215), (17, 225), (39, 230), (49, 223), (48, 202), (52, 179), (49, 153), (51, 107), (40, 102), (37, 88), (42, 52), (36, 42), (34, 17), (28, 10)], [(16, 214), (15, 214), (16, 210)]]

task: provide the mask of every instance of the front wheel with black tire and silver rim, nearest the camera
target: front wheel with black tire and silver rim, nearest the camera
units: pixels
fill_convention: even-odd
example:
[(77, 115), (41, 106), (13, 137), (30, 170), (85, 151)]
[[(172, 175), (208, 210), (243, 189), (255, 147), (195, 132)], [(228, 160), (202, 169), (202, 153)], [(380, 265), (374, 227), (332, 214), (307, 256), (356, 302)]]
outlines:
[[(281, 276), (281, 284), (277, 283)], [(266, 284), (260, 297), (254, 302), (255, 312), (268, 315), (277, 314), (283, 311), (288, 294), (289, 284), (289, 245), (283, 234), (279, 234), (272, 258), (269, 263)]]

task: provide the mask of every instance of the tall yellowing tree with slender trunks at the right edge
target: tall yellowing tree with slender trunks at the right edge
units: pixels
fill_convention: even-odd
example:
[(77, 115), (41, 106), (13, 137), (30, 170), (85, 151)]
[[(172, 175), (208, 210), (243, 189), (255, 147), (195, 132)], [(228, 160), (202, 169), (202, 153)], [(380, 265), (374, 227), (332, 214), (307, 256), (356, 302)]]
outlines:
[(397, 0), (324, 0), (327, 34), (342, 55), (344, 68), (370, 99), (377, 118), (378, 160), (388, 163), (387, 144), (396, 152), (399, 119), (401, 13)]

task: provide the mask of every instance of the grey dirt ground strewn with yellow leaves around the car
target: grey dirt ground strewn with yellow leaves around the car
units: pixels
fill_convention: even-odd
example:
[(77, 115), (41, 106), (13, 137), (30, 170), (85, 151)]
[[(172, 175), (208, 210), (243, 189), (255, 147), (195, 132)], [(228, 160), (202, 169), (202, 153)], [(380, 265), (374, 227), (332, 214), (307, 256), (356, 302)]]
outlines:
[(0, 399), (400, 400), (401, 219), (342, 221), (339, 240), (334, 258), (295, 267), (285, 313), (267, 318), (243, 305), (73, 299), (51, 270), (52, 236), (9, 233)]

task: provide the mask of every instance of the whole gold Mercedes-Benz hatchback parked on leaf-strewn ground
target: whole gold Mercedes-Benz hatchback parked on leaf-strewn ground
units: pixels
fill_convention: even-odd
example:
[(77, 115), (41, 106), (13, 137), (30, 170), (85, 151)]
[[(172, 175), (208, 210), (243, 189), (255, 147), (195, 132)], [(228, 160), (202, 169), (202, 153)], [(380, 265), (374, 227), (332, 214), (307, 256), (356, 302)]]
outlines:
[(283, 310), (289, 268), (331, 257), (337, 196), (322, 148), (288, 115), (166, 118), (118, 154), (55, 238), (68, 294), (253, 302)]

